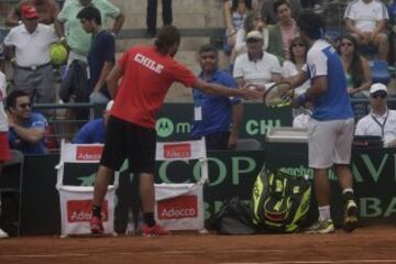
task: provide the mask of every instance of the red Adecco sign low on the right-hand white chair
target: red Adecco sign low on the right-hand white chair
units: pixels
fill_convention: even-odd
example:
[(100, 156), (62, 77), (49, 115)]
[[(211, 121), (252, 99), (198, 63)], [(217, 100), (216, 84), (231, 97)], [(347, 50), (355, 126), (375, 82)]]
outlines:
[(198, 216), (197, 196), (179, 196), (157, 202), (160, 220), (196, 218)]

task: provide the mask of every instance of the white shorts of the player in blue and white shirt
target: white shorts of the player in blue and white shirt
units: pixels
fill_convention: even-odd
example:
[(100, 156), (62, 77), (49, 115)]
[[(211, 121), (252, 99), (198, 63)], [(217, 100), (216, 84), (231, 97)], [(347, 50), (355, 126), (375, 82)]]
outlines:
[(308, 122), (308, 163), (311, 168), (350, 164), (354, 119)]

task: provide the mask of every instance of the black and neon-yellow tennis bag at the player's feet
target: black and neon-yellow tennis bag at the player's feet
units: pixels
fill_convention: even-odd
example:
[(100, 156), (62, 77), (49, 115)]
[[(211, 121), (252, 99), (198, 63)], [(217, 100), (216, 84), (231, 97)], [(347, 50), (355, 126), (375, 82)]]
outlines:
[(264, 167), (253, 187), (253, 223), (264, 230), (296, 232), (308, 215), (310, 197), (311, 185), (304, 177)]

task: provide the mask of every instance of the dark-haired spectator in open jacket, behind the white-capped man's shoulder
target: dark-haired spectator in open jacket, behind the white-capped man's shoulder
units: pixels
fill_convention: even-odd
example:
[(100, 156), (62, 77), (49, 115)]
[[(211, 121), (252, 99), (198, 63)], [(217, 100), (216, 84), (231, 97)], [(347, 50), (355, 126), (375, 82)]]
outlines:
[(267, 52), (277, 56), (283, 64), (285, 59), (289, 59), (290, 42), (298, 35), (298, 32), (287, 0), (276, 0), (274, 2), (274, 12), (278, 18), (278, 22), (268, 25)]

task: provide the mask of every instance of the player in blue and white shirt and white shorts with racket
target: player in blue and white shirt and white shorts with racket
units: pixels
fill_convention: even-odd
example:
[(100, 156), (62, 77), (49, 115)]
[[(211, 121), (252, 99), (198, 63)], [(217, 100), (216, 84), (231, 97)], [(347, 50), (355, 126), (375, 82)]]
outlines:
[(288, 80), (294, 87), (310, 79), (308, 90), (294, 99), (295, 107), (314, 103), (312, 117), (308, 122), (308, 163), (314, 168), (316, 198), (319, 219), (308, 233), (334, 232), (330, 216), (329, 168), (333, 167), (339, 178), (344, 201), (345, 231), (358, 227), (358, 206), (352, 188), (351, 146), (354, 119), (346, 92), (346, 80), (337, 51), (322, 40), (324, 21), (319, 14), (304, 12), (297, 20), (300, 36), (309, 44), (307, 66), (304, 72)]

